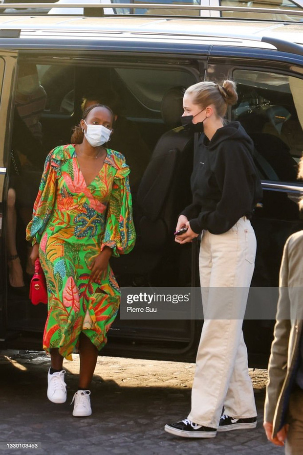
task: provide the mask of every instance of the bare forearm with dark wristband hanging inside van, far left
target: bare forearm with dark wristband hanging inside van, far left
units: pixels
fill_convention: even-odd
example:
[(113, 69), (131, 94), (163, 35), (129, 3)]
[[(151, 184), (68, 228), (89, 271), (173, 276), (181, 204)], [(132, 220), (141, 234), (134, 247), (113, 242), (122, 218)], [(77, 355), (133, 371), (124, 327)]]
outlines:
[(8, 276), (12, 287), (19, 288), (24, 286), (23, 272), (20, 258), (18, 257), (16, 246), (16, 192), (9, 188), (7, 194), (7, 251), (8, 251)]

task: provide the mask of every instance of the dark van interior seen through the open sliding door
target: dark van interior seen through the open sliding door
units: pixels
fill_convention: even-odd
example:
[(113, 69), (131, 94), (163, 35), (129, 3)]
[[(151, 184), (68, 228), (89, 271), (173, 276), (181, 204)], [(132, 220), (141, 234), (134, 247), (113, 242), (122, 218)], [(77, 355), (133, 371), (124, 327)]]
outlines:
[[(36, 87), (31, 92), (34, 79)], [(23, 87), (25, 82), (28, 88)], [(11, 250), (7, 251), (7, 310), (11, 329), (43, 331), (46, 306), (34, 307), (28, 299), (33, 267), (28, 259), (31, 246), (25, 241), (25, 227), (31, 219), (44, 160), (55, 146), (70, 143), (72, 128), (79, 124), (87, 101), (108, 105), (117, 116), (108, 147), (123, 153), (131, 169), (137, 241), (130, 254), (111, 260), (119, 285), (191, 285), (191, 247), (178, 248), (173, 232), (178, 214), (191, 203), (194, 139), (180, 131), (179, 125), (184, 89), (195, 82), (195, 68), (151, 69), (122, 64), (78, 67), (20, 61), (7, 217)], [(14, 223), (15, 249), (11, 235)], [(178, 339), (178, 344), (185, 346), (191, 324), (173, 321), (168, 328), (167, 321), (117, 318), (111, 331), (118, 338), (131, 335), (131, 340), (152, 338), (159, 343)]]

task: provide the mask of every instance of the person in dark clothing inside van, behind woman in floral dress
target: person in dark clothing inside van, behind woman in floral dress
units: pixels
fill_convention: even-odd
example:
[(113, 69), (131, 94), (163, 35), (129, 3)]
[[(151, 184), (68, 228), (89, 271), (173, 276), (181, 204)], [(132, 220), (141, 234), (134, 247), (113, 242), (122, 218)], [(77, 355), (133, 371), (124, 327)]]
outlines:
[(150, 160), (151, 152), (142, 139), (137, 126), (120, 114), (121, 101), (115, 91), (107, 88), (106, 91), (89, 91), (85, 93), (81, 103), (82, 112), (94, 104), (105, 104), (114, 113), (115, 134), (110, 138), (109, 145), (110, 148), (119, 150), (126, 157), (131, 170), (131, 193), (134, 195)]

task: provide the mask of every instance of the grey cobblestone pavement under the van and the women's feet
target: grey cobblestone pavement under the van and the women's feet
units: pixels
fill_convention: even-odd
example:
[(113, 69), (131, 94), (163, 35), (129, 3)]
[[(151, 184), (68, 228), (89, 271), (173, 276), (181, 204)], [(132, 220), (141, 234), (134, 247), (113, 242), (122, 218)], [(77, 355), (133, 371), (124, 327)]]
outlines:
[[(46, 398), (49, 357), (43, 352), (0, 353), (0, 455), (265, 455), (283, 454), (263, 429), (266, 370), (251, 370), (259, 411), (256, 430), (218, 433), (215, 439), (176, 438), (166, 423), (189, 411), (194, 364), (100, 357), (91, 387), (93, 413), (72, 417), (79, 358), (65, 362), (67, 402)], [(39, 442), (41, 449), (4, 449)]]

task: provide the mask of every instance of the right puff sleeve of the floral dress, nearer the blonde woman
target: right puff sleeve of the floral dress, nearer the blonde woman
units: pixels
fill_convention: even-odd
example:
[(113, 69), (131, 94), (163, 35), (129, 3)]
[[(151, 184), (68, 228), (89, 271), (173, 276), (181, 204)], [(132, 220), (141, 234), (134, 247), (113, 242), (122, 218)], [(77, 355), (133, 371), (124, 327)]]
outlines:
[(130, 194), (130, 168), (123, 155), (113, 178), (112, 191), (108, 201), (105, 233), (101, 251), (105, 246), (113, 249), (113, 256), (129, 253), (135, 244), (136, 234), (132, 219)]

